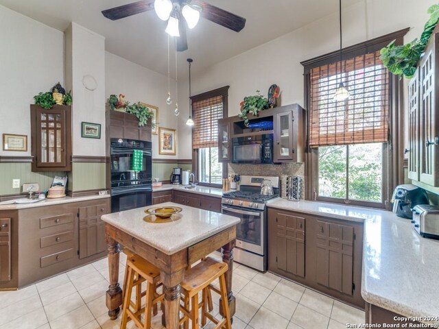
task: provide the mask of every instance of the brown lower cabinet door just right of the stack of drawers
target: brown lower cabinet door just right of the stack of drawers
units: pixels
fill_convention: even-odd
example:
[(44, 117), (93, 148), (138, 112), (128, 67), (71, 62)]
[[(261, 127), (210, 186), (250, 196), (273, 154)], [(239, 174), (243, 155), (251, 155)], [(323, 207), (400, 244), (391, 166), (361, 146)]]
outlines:
[(80, 258), (99, 254), (106, 249), (105, 223), (101, 220), (101, 216), (106, 213), (106, 204), (79, 209)]

